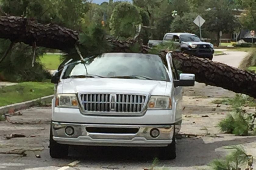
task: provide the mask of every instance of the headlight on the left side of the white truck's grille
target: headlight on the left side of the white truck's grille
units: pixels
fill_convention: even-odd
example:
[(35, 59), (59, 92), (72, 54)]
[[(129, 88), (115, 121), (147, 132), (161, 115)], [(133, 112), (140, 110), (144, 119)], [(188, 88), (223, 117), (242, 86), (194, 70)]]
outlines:
[(55, 100), (55, 107), (78, 107), (76, 95), (58, 94)]

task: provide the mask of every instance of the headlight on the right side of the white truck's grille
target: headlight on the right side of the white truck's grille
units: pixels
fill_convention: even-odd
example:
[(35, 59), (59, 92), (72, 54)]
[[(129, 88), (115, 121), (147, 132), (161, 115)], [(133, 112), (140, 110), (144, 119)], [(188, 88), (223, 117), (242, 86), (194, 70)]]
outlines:
[(172, 109), (172, 99), (167, 96), (151, 96), (148, 109)]

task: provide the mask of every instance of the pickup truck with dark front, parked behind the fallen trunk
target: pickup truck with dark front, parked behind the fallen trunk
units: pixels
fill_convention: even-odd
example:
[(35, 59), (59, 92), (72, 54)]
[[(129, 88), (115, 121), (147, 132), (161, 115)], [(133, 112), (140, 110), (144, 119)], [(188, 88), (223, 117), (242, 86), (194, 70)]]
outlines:
[(181, 52), (202, 57), (208, 58), (209, 60), (213, 59), (214, 49), (213, 44), (209, 42), (202, 42), (201, 39), (195, 34), (189, 33), (167, 33), (165, 34), (162, 41), (149, 40), (148, 46), (153, 47), (159, 43), (164, 43), (172, 41), (177, 45)]

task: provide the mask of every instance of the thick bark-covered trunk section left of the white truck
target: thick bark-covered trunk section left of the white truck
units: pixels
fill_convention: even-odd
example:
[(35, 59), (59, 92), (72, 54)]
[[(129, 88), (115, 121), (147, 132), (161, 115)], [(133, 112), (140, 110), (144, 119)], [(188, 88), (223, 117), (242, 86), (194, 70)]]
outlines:
[(40, 24), (33, 20), (16, 17), (0, 17), (0, 38), (12, 42), (24, 42), (28, 45), (52, 49), (74, 48), (78, 41), (78, 32), (55, 24)]

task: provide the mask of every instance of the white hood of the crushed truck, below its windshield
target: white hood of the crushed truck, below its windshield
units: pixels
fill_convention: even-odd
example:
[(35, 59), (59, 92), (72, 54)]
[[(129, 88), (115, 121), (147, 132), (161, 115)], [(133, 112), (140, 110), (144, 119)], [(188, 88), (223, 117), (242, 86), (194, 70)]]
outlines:
[[(167, 90), (167, 88), (169, 90)], [(112, 78), (76, 78), (64, 79), (57, 87), (57, 93), (121, 92), (143, 93), (151, 95), (169, 95), (171, 83), (154, 80), (112, 79)]]

